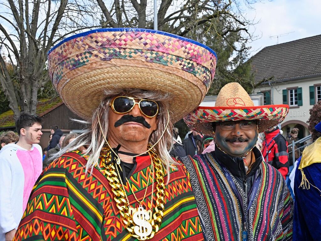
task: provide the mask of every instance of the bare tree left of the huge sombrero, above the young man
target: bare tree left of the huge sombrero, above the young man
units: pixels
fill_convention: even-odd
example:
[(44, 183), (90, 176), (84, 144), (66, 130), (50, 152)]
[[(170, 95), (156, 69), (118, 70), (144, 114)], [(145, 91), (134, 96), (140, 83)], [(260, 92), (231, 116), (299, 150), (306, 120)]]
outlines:
[(16, 119), (21, 111), (36, 113), (39, 87), (49, 79), (48, 50), (68, 34), (92, 26), (93, 6), (68, 0), (0, 4), (0, 82)]

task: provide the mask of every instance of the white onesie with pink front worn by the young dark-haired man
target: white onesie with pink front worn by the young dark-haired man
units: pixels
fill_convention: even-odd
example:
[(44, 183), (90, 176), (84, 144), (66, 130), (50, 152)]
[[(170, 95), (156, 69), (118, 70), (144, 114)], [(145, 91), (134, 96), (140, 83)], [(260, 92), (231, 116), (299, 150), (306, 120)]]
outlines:
[(18, 228), (28, 199), (42, 172), (42, 150), (33, 144), (28, 151), (16, 144), (0, 151), (0, 241)]

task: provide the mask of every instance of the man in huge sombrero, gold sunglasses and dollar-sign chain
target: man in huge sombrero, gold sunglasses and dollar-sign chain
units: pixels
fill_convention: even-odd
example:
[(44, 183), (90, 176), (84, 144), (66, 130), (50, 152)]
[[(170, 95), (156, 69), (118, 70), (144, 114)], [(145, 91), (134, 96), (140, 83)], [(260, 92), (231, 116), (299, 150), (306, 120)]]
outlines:
[(213, 81), (215, 52), (160, 31), (101, 29), (62, 41), (48, 63), (88, 129), (40, 176), (16, 240), (204, 240), (186, 168), (169, 149), (173, 123)]

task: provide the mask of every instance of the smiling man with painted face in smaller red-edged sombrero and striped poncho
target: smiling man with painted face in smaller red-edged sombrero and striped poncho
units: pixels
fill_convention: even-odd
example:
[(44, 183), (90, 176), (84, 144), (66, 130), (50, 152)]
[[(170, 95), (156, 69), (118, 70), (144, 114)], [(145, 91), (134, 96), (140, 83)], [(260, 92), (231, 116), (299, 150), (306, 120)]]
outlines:
[(215, 107), (184, 120), (215, 150), (183, 157), (206, 240), (292, 240), (292, 207), (281, 173), (263, 161), (258, 133), (281, 122), (288, 105), (254, 106), (238, 83), (225, 85)]

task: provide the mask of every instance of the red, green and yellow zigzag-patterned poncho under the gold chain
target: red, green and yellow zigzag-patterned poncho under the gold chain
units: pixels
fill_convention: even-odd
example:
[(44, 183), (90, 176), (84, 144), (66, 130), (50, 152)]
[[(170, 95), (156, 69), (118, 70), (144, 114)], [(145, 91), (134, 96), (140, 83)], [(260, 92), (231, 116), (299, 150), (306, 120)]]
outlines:
[[(137, 208), (138, 203), (129, 185), (137, 198), (142, 200), (151, 160), (147, 155), (136, 157), (134, 162), (135, 169), (128, 177), (125, 189), (130, 205)], [(136, 240), (129, 235), (120, 218), (103, 171), (95, 167), (89, 175), (85, 173), (85, 165), (86, 159), (79, 151), (65, 153), (49, 165), (33, 188), (15, 240)], [(144, 208), (147, 204), (150, 206), (151, 192), (149, 182), (147, 198), (142, 203)], [(170, 170), (165, 194), (160, 230), (150, 240), (204, 240), (184, 165)]]

